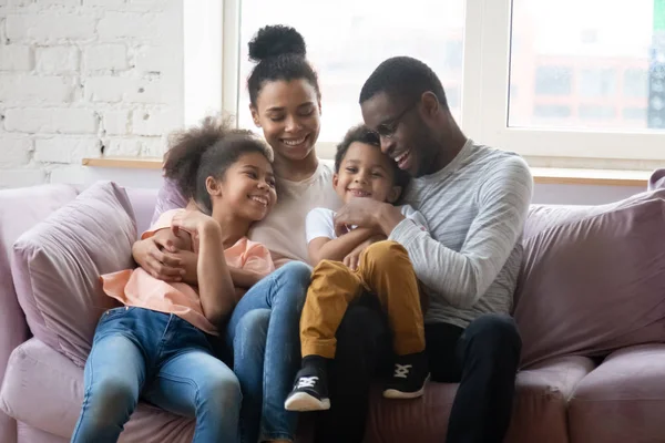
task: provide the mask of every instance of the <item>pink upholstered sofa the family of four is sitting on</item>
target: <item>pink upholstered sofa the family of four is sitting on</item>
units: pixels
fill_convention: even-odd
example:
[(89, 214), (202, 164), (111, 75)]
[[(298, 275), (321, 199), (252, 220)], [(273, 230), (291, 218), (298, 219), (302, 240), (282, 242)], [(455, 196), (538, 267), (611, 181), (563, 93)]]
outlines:
[[(141, 231), (156, 190), (127, 194)], [(64, 185), (0, 192), (1, 443), (66, 442), (79, 413), (83, 370), (31, 338), (10, 268), (16, 239), (76, 195)], [(653, 245), (664, 239), (665, 192), (597, 208), (531, 209), (515, 299), (524, 358), (507, 442), (665, 442), (665, 243)], [(636, 265), (623, 262), (626, 255)], [(409, 402), (377, 393), (366, 440), (442, 441), (456, 389), (430, 383)], [(121, 441), (186, 442), (192, 424), (142, 403)]]

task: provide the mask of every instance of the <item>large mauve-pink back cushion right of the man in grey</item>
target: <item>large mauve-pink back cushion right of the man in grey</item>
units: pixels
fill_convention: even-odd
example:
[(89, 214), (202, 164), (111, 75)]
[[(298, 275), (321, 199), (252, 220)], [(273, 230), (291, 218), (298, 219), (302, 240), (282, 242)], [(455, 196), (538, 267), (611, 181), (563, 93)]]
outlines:
[(514, 316), (522, 364), (665, 341), (665, 189), (532, 207)]

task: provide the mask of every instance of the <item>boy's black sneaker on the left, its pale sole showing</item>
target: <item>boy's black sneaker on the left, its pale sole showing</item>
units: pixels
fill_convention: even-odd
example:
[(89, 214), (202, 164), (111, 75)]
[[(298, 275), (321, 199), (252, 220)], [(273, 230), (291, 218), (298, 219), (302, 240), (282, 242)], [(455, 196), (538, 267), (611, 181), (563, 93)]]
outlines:
[(294, 389), (284, 402), (287, 411), (325, 411), (330, 409), (326, 371), (319, 368), (303, 368), (296, 374)]

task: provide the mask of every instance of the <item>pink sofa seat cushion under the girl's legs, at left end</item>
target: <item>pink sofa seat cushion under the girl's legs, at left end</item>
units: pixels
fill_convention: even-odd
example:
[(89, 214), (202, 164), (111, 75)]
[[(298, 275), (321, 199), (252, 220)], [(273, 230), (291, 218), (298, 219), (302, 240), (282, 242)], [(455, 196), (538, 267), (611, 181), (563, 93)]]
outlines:
[[(32, 338), (12, 352), (2, 383), (0, 408), (17, 421), (69, 439), (83, 402), (83, 369)], [(120, 442), (183, 442), (194, 421), (141, 402)]]

